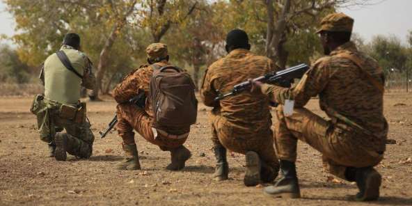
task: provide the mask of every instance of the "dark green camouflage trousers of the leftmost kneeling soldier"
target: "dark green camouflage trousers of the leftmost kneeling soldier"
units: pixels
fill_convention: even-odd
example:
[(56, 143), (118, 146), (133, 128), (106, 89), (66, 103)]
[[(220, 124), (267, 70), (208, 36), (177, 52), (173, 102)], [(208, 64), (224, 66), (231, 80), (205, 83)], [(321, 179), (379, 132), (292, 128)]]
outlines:
[[(90, 123), (86, 120), (84, 122), (74, 122), (72, 120), (53, 117), (53, 125), (55, 132), (65, 132), (68, 134), (66, 151), (77, 157), (88, 158), (93, 153), (93, 142), (95, 136), (90, 130)], [(54, 137), (56, 133), (52, 134)]]

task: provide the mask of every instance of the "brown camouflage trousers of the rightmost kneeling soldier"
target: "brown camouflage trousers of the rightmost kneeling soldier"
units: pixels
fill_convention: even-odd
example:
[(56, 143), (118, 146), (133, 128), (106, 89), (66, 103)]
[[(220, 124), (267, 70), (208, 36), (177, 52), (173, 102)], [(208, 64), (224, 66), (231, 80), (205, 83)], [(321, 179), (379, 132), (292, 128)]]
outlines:
[(321, 152), (324, 170), (342, 179), (347, 167), (376, 166), (383, 159), (383, 152), (372, 151), (356, 141), (364, 134), (342, 122), (326, 121), (305, 108), (284, 116), (282, 105), (277, 107), (276, 116), (274, 136), (279, 159), (296, 161), (298, 139)]

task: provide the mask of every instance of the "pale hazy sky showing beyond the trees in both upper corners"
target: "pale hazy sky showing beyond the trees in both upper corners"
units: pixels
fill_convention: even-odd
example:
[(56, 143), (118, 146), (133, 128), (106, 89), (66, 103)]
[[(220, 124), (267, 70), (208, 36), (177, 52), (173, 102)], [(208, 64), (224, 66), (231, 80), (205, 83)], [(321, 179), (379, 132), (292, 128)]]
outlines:
[[(382, 0), (375, 0), (382, 1)], [(344, 8), (342, 12), (355, 19), (354, 31), (365, 40), (377, 34), (395, 34), (406, 43), (406, 35), (412, 30), (412, 0), (386, 0), (362, 8)], [(0, 1), (0, 33), (13, 35), (15, 22)]]

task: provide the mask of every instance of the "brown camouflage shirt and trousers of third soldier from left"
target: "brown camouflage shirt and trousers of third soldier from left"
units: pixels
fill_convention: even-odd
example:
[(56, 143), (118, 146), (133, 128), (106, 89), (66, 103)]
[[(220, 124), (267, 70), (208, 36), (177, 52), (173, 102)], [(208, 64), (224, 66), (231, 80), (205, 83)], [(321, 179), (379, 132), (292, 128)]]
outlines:
[(235, 49), (208, 68), (200, 97), (210, 114), (212, 141), (234, 152), (254, 151), (263, 161), (278, 171), (278, 159), (273, 146), (269, 100), (264, 95), (244, 92), (214, 102), (219, 93), (227, 93), (236, 84), (249, 78), (274, 72), (274, 63), (246, 49)]

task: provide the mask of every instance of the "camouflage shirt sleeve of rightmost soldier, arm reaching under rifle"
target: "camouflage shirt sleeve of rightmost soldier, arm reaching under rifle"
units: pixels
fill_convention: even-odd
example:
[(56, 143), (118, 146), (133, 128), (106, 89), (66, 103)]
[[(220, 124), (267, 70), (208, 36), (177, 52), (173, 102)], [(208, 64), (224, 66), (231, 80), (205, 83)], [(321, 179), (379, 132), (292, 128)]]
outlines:
[(276, 85), (263, 84), (262, 93), (272, 102), (285, 104), (285, 100), (294, 100), (295, 107), (305, 106), (311, 97), (322, 92), (330, 79), (330, 70), (325, 61), (317, 61), (312, 68), (303, 75), (301, 81), (292, 88), (283, 88)]

